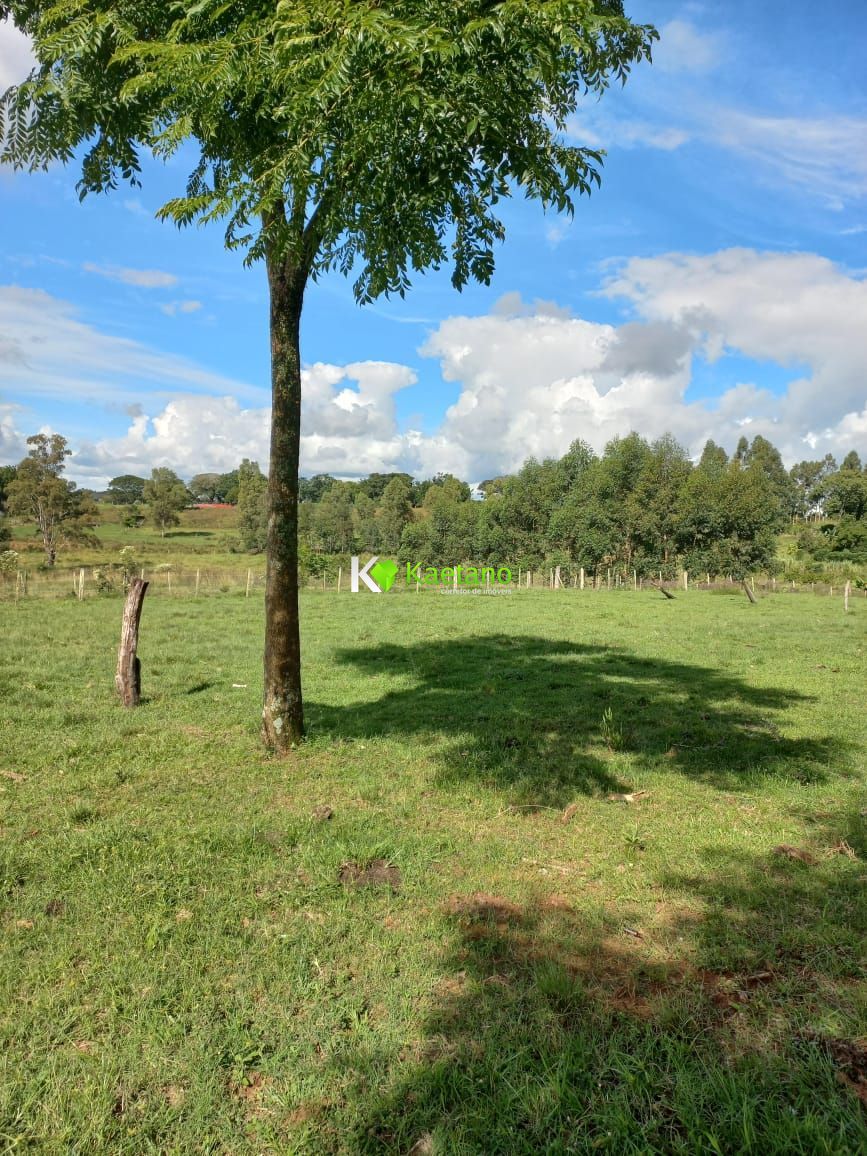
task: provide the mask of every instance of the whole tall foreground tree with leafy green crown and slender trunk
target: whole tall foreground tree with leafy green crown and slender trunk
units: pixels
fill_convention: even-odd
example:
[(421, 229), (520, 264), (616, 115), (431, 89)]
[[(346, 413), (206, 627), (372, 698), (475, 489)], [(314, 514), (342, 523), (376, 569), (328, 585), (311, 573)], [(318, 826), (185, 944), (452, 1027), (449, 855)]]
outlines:
[(83, 146), (82, 195), (138, 180), (140, 151), (199, 150), (161, 217), (228, 221), (266, 265), (272, 437), (266, 742), (303, 734), (298, 631), (301, 316), (309, 281), (356, 272), (360, 302), (410, 271), (488, 283), (516, 188), (560, 212), (601, 154), (564, 139), (587, 92), (650, 55), (621, 0), (7, 0), (32, 37), (31, 77), (3, 98), (18, 166)]

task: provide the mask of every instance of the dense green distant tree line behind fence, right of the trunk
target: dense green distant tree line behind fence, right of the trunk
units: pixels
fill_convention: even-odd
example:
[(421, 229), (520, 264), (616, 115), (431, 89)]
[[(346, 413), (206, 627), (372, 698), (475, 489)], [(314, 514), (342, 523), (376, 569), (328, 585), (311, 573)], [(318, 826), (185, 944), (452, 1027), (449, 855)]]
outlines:
[(867, 562), (858, 454), (839, 467), (828, 457), (786, 470), (761, 436), (741, 438), (731, 458), (707, 442), (697, 464), (669, 435), (614, 438), (601, 454), (575, 442), (562, 458), (529, 459), (517, 474), (482, 482), (482, 501), (449, 474), (421, 483), (407, 474), (319, 476), (307, 486), (299, 532), (312, 555), (742, 577), (771, 569), (778, 534), (796, 524), (813, 556)]

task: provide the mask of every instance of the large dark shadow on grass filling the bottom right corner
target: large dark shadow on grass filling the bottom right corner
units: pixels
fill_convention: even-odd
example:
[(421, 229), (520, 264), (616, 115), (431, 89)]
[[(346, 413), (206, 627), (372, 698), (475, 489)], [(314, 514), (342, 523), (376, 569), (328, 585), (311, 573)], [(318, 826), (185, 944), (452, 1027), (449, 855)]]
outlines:
[(453, 897), (423, 1043), (344, 1150), (867, 1151), (865, 882), (836, 854), (710, 852), (644, 929)]

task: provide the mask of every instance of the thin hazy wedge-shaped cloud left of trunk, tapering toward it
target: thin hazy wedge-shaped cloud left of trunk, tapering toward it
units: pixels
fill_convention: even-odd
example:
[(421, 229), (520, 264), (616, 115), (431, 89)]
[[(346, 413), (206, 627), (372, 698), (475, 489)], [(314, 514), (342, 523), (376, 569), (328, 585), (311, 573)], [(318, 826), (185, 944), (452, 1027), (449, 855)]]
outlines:
[(0, 388), (31, 397), (139, 400), (154, 390), (257, 398), (264, 390), (87, 325), (40, 289), (0, 286)]

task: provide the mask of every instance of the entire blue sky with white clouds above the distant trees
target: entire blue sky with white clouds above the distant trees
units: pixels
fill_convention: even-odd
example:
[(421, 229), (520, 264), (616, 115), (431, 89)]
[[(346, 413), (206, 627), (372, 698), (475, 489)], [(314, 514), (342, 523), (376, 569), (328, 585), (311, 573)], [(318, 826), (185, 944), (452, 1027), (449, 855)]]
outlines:
[[(608, 150), (571, 223), (514, 200), (491, 286), (461, 295), (447, 271), (363, 309), (336, 275), (309, 291), (306, 473), (477, 481), (629, 429), (867, 450), (867, 7), (628, 10), (662, 38), (570, 126)], [(27, 68), (0, 24), (0, 88)], [(154, 220), (185, 175), (81, 205), (73, 168), (0, 171), (0, 461), (39, 429), (94, 486), (267, 461), (264, 272)]]

